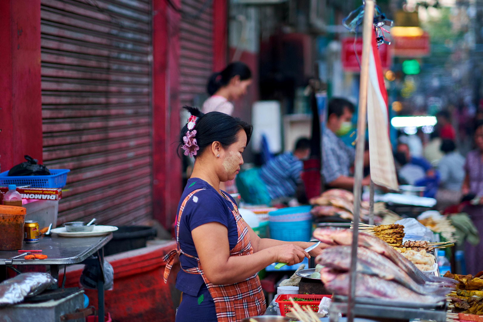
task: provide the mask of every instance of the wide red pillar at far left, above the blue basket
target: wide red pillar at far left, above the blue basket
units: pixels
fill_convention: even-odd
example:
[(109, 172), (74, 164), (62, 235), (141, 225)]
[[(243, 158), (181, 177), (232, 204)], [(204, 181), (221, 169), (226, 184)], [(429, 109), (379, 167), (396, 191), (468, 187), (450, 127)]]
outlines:
[(0, 166), (42, 162), (40, 0), (0, 1)]

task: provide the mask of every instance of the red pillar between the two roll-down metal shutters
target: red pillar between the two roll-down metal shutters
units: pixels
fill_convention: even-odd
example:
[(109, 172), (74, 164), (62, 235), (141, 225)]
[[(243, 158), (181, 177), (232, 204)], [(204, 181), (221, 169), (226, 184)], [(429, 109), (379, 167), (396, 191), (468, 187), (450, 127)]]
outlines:
[[(180, 0), (173, 1), (180, 6)], [(181, 197), (179, 134), (179, 19), (164, 0), (153, 0), (153, 217), (170, 229)]]

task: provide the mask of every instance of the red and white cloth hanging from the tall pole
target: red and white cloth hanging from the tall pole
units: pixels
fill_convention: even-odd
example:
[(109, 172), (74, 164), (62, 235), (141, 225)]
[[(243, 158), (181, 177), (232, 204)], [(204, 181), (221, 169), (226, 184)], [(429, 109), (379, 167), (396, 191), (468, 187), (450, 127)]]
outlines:
[(398, 190), (398, 178), (389, 140), (387, 91), (375, 38), (372, 37), (370, 47), (367, 89), (370, 177), (377, 185)]

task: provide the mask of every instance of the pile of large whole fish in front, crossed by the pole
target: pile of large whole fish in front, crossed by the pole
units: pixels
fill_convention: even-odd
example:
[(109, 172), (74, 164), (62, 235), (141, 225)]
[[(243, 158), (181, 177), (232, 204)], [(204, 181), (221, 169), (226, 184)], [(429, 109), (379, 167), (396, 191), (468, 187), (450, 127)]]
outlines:
[[(321, 280), (334, 294), (349, 292), (352, 230), (318, 228), (313, 236), (332, 247), (315, 259), (325, 266)], [(437, 303), (453, 290), (455, 280), (428, 276), (383, 240), (359, 233), (356, 296), (399, 302)]]

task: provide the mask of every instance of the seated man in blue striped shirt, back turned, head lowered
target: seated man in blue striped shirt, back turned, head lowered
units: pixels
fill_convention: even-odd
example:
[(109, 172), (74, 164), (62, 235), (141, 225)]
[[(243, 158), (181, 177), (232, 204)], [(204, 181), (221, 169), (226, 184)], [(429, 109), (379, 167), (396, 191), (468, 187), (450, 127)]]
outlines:
[(295, 144), (294, 152), (286, 152), (269, 160), (260, 169), (259, 175), (265, 183), (270, 199), (294, 196), (303, 162), (310, 155), (310, 140), (301, 138)]

